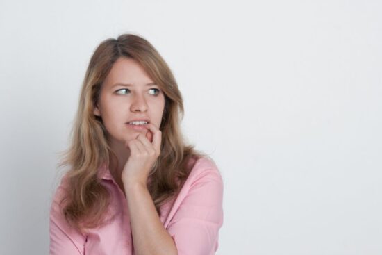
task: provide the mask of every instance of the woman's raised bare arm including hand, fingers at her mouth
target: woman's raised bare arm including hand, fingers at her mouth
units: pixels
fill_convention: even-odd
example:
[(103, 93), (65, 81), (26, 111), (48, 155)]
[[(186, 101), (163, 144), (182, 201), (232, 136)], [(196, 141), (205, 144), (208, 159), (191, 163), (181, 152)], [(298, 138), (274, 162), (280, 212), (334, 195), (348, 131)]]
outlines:
[(134, 250), (137, 255), (176, 255), (174, 241), (160, 222), (146, 186), (147, 176), (160, 154), (162, 133), (152, 123), (146, 127), (153, 134), (152, 142), (146, 135), (138, 135), (137, 138), (126, 142), (130, 155), (121, 176), (130, 215)]

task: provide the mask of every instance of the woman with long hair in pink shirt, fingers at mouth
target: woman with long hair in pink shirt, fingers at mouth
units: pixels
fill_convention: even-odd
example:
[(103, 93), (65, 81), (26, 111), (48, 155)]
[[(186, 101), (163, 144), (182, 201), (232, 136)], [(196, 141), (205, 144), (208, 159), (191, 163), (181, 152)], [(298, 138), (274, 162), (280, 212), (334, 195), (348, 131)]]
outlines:
[(85, 74), (51, 204), (50, 254), (215, 254), (223, 181), (185, 145), (183, 100), (144, 38), (103, 41)]

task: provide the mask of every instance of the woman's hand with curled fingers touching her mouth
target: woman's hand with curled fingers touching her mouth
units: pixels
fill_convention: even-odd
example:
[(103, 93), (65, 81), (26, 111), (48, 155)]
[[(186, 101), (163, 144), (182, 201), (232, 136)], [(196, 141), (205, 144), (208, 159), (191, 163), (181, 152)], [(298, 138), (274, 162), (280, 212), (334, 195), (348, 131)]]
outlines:
[(162, 132), (152, 123), (146, 126), (149, 129), (146, 135), (139, 134), (125, 143), (130, 150), (130, 156), (122, 171), (124, 185), (141, 183), (146, 186), (151, 167), (160, 155)]

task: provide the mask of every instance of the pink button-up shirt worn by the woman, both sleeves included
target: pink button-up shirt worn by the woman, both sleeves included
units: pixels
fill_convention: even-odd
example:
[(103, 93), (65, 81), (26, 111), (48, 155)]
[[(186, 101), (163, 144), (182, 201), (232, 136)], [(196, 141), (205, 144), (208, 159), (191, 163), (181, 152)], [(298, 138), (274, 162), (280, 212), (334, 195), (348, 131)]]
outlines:
[[(64, 176), (51, 204), (49, 254), (134, 254), (124, 192), (115, 183), (106, 164), (99, 168), (99, 177), (112, 194), (110, 206), (112, 211), (117, 211), (117, 217), (103, 227), (90, 229), (86, 235), (71, 229), (58, 206), (66, 189)], [(161, 207), (160, 221), (174, 239), (178, 255), (215, 254), (223, 224), (222, 202), (222, 176), (212, 161), (200, 158), (178, 197)]]

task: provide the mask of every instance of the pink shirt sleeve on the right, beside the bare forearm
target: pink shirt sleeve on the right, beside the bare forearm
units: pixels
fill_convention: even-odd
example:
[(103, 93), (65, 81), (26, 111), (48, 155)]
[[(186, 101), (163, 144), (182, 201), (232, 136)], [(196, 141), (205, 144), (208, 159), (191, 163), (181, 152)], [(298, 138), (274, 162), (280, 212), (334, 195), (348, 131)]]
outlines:
[(188, 194), (167, 227), (178, 255), (213, 255), (223, 224), (223, 181), (217, 169), (192, 181)]

